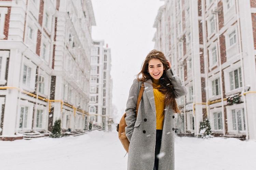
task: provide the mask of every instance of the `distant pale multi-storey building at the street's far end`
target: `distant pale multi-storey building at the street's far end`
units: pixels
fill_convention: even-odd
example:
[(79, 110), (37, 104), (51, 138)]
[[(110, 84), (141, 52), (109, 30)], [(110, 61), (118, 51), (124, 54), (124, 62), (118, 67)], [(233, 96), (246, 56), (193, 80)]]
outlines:
[(111, 50), (104, 41), (94, 41), (91, 51), (89, 121), (107, 130), (111, 119), (112, 78)]

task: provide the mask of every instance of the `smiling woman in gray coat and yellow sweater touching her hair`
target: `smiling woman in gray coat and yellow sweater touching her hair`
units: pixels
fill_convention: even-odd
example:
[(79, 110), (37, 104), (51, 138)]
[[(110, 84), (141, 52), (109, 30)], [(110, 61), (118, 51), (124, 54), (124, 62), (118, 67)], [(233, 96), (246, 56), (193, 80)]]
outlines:
[[(136, 108), (142, 83), (145, 89)], [(186, 94), (165, 55), (157, 50), (148, 53), (126, 104), (128, 170), (174, 170), (174, 113), (180, 113), (175, 98)]]

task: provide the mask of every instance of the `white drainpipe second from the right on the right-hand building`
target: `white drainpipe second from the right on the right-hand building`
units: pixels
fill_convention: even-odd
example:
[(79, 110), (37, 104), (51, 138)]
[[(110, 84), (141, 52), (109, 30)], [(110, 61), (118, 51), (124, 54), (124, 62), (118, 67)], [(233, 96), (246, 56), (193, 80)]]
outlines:
[[(218, 2), (217, 0), (215, 0), (215, 6), (218, 7)], [(219, 19), (218, 19), (218, 10), (214, 11), (215, 15), (216, 15), (216, 27), (217, 27), (217, 44), (218, 44), (218, 60), (219, 60), (219, 75), (220, 75), (220, 87), (221, 87), (221, 93), (223, 92), (223, 86), (222, 86), (222, 65), (221, 65), (221, 46), (219, 44)], [(223, 95), (221, 95), (221, 107), (222, 107), (222, 124), (223, 124), (223, 136), (226, 135), (225, 133), (225, 119), (224, 119), (224, 100), (223, 100)]]

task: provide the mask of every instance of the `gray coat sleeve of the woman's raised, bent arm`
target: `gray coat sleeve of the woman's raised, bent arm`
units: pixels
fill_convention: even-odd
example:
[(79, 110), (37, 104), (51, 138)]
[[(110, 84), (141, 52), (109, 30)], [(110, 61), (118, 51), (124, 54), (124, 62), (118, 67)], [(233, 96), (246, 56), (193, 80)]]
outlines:
[(174, 98), (180, 98), (187, 94), (187, 88), (181, 79), (173, 73), (173, 70), (170, 68), (166, 71), (167, 77), (171, 80), (174, 88)]

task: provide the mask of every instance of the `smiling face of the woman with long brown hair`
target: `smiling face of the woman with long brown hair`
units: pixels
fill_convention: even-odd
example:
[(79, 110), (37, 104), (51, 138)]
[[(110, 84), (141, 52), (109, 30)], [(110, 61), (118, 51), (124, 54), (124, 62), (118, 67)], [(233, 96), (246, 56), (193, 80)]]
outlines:
[(160, 79), (163, 75), (163, 64), (158, 58), (153, 58), (148, 62), (148, 72), (154, 79)]

